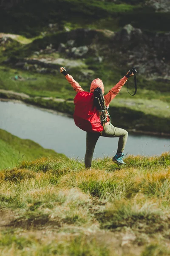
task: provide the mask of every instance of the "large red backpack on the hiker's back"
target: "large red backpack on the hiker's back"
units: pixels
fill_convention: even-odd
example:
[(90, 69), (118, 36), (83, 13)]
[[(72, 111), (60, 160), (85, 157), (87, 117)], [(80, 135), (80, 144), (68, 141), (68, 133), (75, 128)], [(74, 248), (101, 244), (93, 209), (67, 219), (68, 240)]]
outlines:
[(94, 93), (77, 93), (74, 105), (74, 122), (80, 129), (87, 132), (103, 131), (99, 111), (94, 106)]

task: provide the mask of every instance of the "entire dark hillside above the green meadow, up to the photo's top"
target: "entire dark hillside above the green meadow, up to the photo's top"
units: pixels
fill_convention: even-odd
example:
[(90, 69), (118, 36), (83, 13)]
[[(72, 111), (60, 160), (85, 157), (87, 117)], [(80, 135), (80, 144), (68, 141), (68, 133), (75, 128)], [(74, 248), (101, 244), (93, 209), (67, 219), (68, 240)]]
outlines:
[[(1, 63), (8, 59), (5, 63), (18, 68), (53, 73), (62, 58), (69, 59), (69, 68), (81, 66), (84, 61), (74, 60), (85, 58), (93, 71), (94, 62), (120, 70), (135, 64), (148, 79), (170, 79), (168, 1), (1, 0), (1, 6), (1, 32), (39, 37), (23, 47), (17, 38), (1, 35)], [(59, 55), (51, 58), (54, 52)]]

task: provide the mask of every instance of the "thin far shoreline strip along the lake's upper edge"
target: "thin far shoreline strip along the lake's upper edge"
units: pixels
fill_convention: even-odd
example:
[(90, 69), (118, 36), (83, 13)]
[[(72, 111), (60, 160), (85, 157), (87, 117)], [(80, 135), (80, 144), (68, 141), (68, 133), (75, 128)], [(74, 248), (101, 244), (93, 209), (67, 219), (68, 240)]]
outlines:
[[(67, 116), (69, 118), (73, 118), (73, 116), (71, 114), (68, 113), (63, 113), (57, 110), (53, 110), (50, 108), (43, 108), (42, 106), (38, 106), (38, 105), (34, 105), (31, 103), (27, 103), (25, 101), (23, 101), (22, 99), (5, 99), (5, 98), (0, 98), (1, 102), (14, 102), (14, 103), (20, 103), (20, 104), (25, 104), (34, 108), (39, 108), (40, 110), (44, 110), (47, 111), (49, 113), (57, 113), (59, 115), (62, 116)], [(126, 129), (130, 134), (141, 134), (141, 135), (150, 135), (150, 136), (156, 136), (156, 137), (165, 137), (165, 138), (170, 138), (170, 134), (168, 133), (164, 133), (164, 132), (154, 132), (154, 131), (142, 131), (142, 130), (136, 130), (136, 129), (128, 129), (128, 128), (124, 128)]]

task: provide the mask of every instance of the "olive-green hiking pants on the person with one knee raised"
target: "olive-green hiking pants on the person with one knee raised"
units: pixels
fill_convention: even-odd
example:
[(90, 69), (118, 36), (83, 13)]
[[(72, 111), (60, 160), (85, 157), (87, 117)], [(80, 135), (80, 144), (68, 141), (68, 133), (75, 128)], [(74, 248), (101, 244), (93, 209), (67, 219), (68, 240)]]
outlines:
[(100, 136), (110, 137), (110, 138), (119, 137), (117, 153), (122, 153), (125, 148), (126, 142), (127, 142), (128, 132), (124, 129), (114, 127), (111, 123), (109, 125), (105, 125), (102, 135), (100, 133), (87, 132), (86, 152), (85, 152), (85, 167), (86, 168), (91, 167), (91, 161), (93, 158), (94, 148), (95, 148), (96, 142)]

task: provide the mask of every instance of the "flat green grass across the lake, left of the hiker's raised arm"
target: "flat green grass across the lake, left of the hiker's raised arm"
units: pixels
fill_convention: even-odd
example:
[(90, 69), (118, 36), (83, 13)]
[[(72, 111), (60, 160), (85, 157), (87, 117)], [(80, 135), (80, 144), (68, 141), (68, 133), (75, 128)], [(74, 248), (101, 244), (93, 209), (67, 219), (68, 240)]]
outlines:
[[(24, 81), (14, 80), (16, 75), (20, 75)], [(16, 69), (0, 68), (0, 89), (13, 90), (18, 93), (26, 93), (29, 96), (57, 97), (69, 99), (70, 94), (75, 93), (70, 88), (68, 82), (59, 73), (54, 75), (41, 75)], [(72, 89), (72, 90), (71, 90)]]

